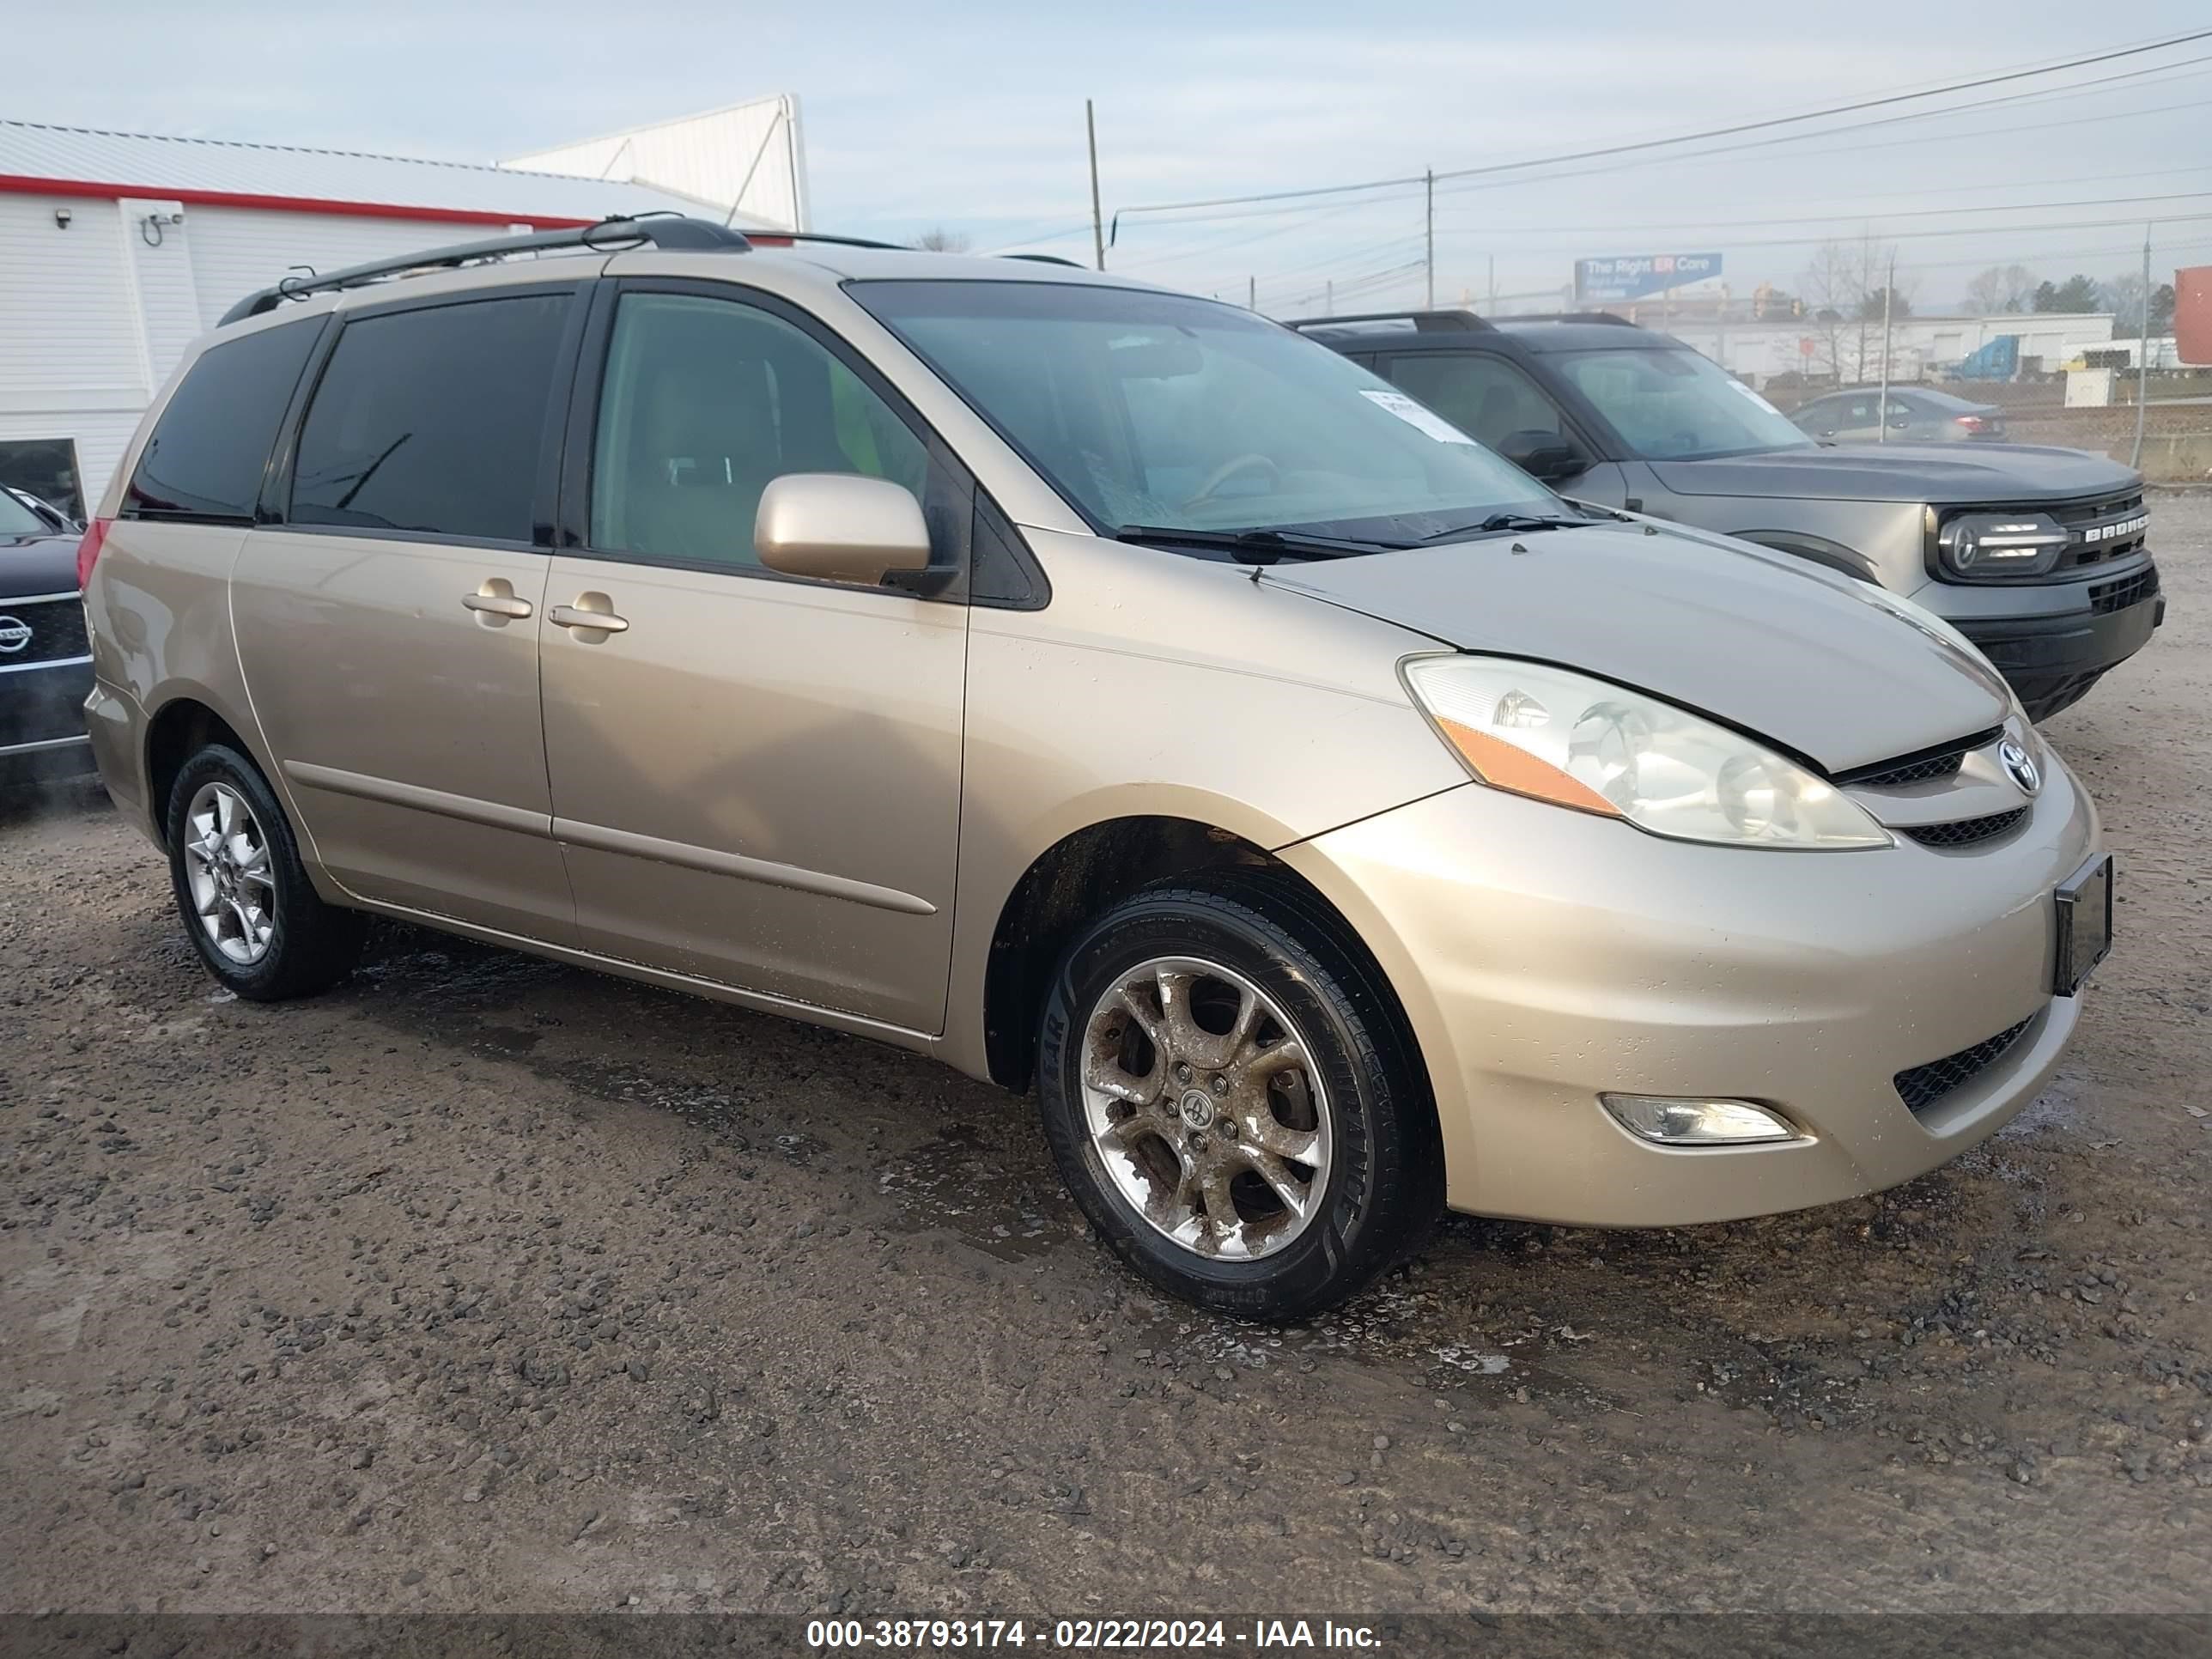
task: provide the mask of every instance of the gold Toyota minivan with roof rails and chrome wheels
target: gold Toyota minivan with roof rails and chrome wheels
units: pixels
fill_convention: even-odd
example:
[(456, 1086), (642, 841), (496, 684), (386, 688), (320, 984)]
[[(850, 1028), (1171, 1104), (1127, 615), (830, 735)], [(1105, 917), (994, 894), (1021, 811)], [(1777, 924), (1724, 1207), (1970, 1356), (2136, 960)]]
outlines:
[(239, 995), (383, 914), (1035, 1084), (1106, 1241), (1239, 1314), (1442, 1206), (1920, 1175), (2110, 936), (1947, 624), (1057, 263), (646, 219), (288, 283), (80, 575), (108, 790)]

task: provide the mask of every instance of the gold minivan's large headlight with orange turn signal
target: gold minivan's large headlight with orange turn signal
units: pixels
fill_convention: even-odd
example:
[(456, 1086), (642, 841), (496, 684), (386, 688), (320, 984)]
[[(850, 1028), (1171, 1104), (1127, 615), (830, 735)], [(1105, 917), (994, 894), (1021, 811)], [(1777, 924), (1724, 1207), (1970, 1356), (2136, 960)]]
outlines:
[(1887, 847), (1796, 761), (1644, 692), (1509, 657), (1413, 657), (1413, 699), (1493, 790), (1732, 847)]

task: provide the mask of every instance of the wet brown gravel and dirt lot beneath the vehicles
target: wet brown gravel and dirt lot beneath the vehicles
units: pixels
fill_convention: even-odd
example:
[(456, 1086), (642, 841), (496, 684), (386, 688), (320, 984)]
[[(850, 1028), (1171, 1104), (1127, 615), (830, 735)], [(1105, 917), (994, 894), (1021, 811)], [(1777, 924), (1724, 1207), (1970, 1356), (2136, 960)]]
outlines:
[(1267, 1332), (1124, 1276), (1033, 1106), (376, 936), (212, 993), (0, 807), (0, 1606), (2212, 1608), (2212, 495), (2051, 732), (2119, 945), (2051, 1093), (1774, 1221), (1455, 1219)]

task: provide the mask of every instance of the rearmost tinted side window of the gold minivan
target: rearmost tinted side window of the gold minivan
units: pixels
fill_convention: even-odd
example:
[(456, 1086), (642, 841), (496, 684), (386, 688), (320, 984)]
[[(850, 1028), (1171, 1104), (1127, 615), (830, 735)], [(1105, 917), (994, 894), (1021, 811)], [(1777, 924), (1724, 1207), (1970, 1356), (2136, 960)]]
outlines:
[(285, 323), (210, 345), (155, 420), (124, 518), (254, 515), (283, 409), (323, 323)]

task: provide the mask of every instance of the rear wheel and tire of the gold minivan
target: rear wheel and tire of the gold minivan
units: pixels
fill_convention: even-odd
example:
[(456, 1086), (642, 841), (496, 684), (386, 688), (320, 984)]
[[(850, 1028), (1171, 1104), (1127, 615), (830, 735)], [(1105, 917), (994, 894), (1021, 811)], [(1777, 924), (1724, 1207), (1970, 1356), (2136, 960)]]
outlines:
[(316, 896), (274, 792), (226, 743), (186, 761), (168, 792), (168, 878), (199, 960), (241, 998), (314, 995), (361, 960), (367, 918)]

